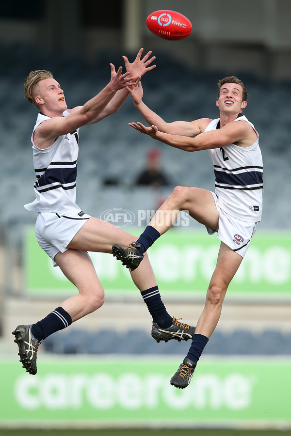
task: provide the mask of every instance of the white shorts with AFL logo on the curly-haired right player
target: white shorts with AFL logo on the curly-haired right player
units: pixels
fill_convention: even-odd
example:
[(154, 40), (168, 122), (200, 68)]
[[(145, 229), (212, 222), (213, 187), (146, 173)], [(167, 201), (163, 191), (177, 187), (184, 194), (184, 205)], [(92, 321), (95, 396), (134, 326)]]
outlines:
[[(211, 192), (211, 191), (210, 191)], [(218, 228), (213, 231), (206, 227), (209, 234), (217, 232), (217, 239), (224, 242), (233, 251), (244, 257), (249, 248), (259, 222), (247, 222), (231, 217), (219, 207), (219, 200), (214, 192), (211, 192), (218, 211)]]

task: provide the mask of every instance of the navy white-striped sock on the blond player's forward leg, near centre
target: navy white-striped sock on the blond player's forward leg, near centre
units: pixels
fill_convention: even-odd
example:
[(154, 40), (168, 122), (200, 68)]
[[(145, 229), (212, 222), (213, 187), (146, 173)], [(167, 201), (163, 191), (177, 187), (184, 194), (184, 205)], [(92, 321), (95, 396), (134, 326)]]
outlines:
[(158, 286), (146, 289), (141, 294), (153, 321), (162, 328), (170, 327), (173, 324), (173, 317), (168, 314), (164, 307)]

